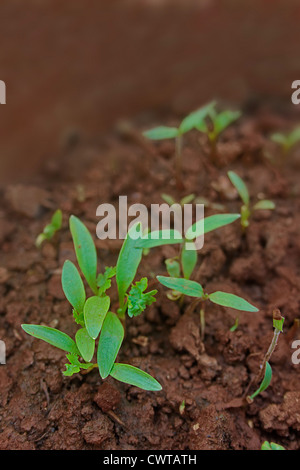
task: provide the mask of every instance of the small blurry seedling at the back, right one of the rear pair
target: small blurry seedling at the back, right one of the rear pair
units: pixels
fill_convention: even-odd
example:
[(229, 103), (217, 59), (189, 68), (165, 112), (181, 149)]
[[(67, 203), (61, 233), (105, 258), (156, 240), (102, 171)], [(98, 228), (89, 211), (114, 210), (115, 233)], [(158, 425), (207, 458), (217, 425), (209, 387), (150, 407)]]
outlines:
[(212, 106), (207, 113), (207, 119), (201, 120), (201, 122), (197, 124), (196, 129), (200, 132), (204, 132), (212, 148), (215, 148), (220, 134), (240, 117), (241, 113), (239, 111), (228, 110), (217, 113)]

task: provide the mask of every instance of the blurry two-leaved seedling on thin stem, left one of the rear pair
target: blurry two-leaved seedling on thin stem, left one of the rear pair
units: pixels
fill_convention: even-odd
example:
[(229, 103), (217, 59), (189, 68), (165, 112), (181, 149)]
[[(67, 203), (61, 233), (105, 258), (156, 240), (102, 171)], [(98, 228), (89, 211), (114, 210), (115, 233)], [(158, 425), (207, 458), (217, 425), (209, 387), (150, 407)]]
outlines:
[(215, 102), (208, 103), (183, 119), (179, 127), (159, 126), (143, 133), (151, 140), (175, 139), (175, 178), (178, 189), (183, 189), (182, 181), (182, 137), (187, 132), (200, 126), (202, 121), (214, 107)]

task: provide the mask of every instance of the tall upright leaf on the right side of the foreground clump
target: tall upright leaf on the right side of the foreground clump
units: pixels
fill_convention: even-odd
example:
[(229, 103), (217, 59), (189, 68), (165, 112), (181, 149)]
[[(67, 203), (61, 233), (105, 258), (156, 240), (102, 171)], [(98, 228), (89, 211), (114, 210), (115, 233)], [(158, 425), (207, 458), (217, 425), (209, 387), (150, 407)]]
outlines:
[(137, 268), (142, 259), (143, 250), (138, 246), (140, 239), (135, 240), (132, 238), (137, 228), (141, 228), (141, 223), (135, 224), (128, 231), (117, 261), (116, 279), (121, 308), (124, 305), (127, 289), (134, 280)]

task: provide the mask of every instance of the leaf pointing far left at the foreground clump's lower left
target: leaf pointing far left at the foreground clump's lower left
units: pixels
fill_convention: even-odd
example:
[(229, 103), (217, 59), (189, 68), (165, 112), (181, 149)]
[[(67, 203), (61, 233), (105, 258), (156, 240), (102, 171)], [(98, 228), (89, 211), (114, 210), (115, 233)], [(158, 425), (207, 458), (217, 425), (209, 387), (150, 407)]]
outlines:
[(43, 325), (21, 325), (23, 330), (34, 338), (42, 339), (46, 343), (74, 354), (79, 354), (75, 341), (66, 333)]

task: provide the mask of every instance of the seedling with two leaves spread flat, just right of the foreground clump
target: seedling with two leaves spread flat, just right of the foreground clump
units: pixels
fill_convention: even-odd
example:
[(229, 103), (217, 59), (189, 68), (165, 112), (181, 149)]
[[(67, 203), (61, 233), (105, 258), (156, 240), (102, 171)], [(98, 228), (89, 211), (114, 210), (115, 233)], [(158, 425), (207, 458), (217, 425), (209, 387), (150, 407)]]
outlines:
[(243, 299), (234, 294), (228, 292), (217, 291), (211, 294), (204, 292), (201, 284), (195, 281), (190, 281), (183, 278), (175, 277), (166, 277), (166, 276), (157, 276), (157, 280), (165, 287), (172, 289), (181, 294), (188, 295), (190, 297), (195, 297), (196, 300), (191, 304), (191, 309), (194, 310), (198, 304), (201, 304), (200, 307), (200, 329), (201, 329), (201, 338), (204, 338), (205, 333), (205, 311), (204, 303), (207, 300), (221, 305), (223, 307), (233, 308), (235, 310), (241, 310), (244, 312), (258, 312), (258, 309), (251, 305), (247, 300)]

